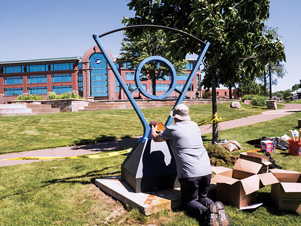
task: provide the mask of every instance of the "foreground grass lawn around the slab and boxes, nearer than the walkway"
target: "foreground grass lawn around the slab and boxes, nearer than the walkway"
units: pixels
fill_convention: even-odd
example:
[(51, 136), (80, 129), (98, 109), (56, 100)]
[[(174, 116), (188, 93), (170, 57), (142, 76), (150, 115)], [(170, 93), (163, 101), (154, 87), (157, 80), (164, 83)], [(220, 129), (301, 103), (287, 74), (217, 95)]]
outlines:
[[(195, 107), (196, 111), (202, 111), (197, 109), (199, 106)], [(296, 128), (300, 118), (301, 112), (298, 112), (221, 131), (219, 135), (221, 139), (237, 140), (242, 151), (252, 150), (254, 147), (246, 141), (287, 134), (289, 129)], [(207, 149), (214, 148), (208, 144), (210, 138), (211, 134), (204, 136)], [(300, 156), (276, 150), (272, 157), (283, 169), (301, 172)], [(120, 175), (124, 158), (63, 159), (1, 167), (0, 225), (199, 225), (182, 208), (162, 210), (146, 217), (101, 192), (93, 184), (94, 180)], [(241, 211), (226, 205), (231, 225), (300, 225), (301, 214), (278, 210), (269, 192), (270, 186), (258, 192), (258, 202), (264, 204), (254, 210)]]

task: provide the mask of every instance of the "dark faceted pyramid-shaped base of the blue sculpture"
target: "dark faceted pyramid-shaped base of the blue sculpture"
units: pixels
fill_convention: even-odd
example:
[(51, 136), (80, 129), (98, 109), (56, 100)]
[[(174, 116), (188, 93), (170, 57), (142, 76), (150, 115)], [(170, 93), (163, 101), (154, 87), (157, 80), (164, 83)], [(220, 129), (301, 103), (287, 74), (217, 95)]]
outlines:
[(135, 192), (180, 187), (173, 153), (167, 142), (138, 142), (121, 164), (121, 177)]

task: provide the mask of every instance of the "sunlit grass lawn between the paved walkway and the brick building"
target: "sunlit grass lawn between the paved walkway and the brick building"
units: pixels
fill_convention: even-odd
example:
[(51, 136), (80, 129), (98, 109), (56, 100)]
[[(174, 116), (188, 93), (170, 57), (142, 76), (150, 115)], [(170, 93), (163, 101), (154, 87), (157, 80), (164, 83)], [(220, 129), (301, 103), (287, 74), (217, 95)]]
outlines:
[[(211, 104), (189, 106), (193, 121), (210, 124)], [(223, 121), (257, 115), (266, 107), (218, 104)], [(166, 122), (171, 107), (141, 109), (147, 122)], [(204, 120), (205, 119), (205, 120)], [(37, 116), (0, 117), (0, 154), (85, 145), (124, 137), (141, 136), (143, 127), (133, 109), (61, 112)]]

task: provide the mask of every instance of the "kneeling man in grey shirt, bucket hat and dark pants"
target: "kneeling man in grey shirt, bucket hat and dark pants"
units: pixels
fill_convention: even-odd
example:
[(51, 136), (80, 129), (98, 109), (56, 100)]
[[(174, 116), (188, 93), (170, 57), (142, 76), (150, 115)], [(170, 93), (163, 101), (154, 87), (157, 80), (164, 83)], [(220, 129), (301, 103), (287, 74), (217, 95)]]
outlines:
[(189, 108), (179, 104), (170, 115), (175, 124), (166, 127), (160, 134), (156, 132), (157, 127), (152, 126), (152, 138), (155, 142), (170, 142), (177, 164), (183, 205), (199, 221), (210, 218), (210, 225), (230, 225), (223, 204), (214, 203), (207, 197), (212, 174), (210, 159), (198, 125), (190, 121)]

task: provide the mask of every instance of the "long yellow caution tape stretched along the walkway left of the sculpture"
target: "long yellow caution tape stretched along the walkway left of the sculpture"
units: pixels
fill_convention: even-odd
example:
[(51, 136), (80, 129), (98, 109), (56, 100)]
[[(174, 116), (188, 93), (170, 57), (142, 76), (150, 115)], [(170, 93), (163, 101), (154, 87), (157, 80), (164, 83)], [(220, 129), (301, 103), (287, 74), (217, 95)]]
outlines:
[(101, 159), (101, 158), (107, 158), (117, 155), (123, 155), (130, 153), (132, 149), (125, 149), (120, 150), (116, 152), (109, 152), (109, 153), (103, 153), (103, 154), (95, 154), (95, 155), (79, 155), (79, 156), (69, 156), (69, 157), (19, 157), (14, 159), (0, 159), (0, 161), (6, 161), (6, 160), (46, 160), (46, 159)]

